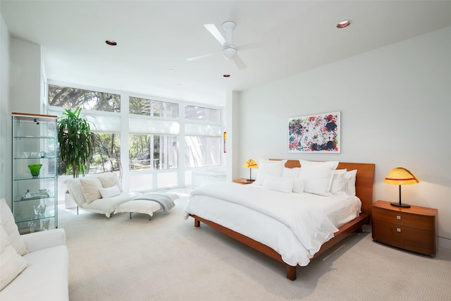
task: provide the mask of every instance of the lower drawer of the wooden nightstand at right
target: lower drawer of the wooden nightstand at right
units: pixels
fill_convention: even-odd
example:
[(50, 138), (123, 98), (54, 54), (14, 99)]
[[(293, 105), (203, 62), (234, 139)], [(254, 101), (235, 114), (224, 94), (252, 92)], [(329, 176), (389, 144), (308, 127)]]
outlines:
[(435, 231), (373, 220), (373, 240), (421, 254), (435, 254)]

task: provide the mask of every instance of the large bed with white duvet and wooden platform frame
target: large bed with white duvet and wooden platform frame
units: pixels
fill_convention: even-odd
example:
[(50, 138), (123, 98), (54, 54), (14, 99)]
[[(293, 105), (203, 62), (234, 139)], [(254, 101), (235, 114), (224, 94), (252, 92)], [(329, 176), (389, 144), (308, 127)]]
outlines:
[[(299, 170), (301, 162), (306, 171), (307, 167), (314, 164), (303, 160), (271, 159), (271, 161), (283, 164), (284, 174), (285, 171)], [(195, 227), (199, 227), (201, 222), (205, 223), (282, 262), (286, 265), (287, 278), (295, 280), (297, 266), (306, 266), (311, 259), (319, 257), (347, 235), (361, 230), (364, 224), (369, 223), (374, 167), (374, 164), (336, 162), (333, 168), (334, 175), (339, 171), (346, 170), (348, 173), (354, 171), (355, 197), (340, 195), (341, 192), (328, 194), (327, 197), (306, 192), (287, 193), (290, 188), (280, 192), (285, 190), (284, 185), (279, 185), (278, 189), (266, 189), (269, 187), (266, 183), (271, 178), (268, 175), (265, 176), (264, 185), (261, 185), (262, 178), (259, 178), (259, 175), (256, 183), (252, 185), (212, 183), (193, 190), (185, 207), (185, 218), (191, 216)], [(259, 165), (259, 174), (263, 175), (263, 171), (264, 168)], [(275, 179), (271, 178), (271, 183)], [(259, 180), (260, 185), (257, 185)], [(307, 185), (305, 180), (304, 185)], [(290, 187), (293, 189), (293, 186)], [(307, 186), (305, 188), (307, 189)], [(336, 204), (342, 204), (346, 199), (350, 207), (343, 205), (343, 208), (334, 211), (335, 205), (328, 207), (326, 202), (321, 202), (321, 210), (318, 210), (316, 204), (319, 204), (318, 200), (321, 197), (331, 204), (335, 201)], [(271, 202), (270, 199), (276, 202)], [(297, 202), (298, 199), (305, 199), (305, 202), (302, 201), (305, 204)], [(351, 211), (354, 211), (354, 215)], [(338, 215), (344, 218), (331, 217)]]

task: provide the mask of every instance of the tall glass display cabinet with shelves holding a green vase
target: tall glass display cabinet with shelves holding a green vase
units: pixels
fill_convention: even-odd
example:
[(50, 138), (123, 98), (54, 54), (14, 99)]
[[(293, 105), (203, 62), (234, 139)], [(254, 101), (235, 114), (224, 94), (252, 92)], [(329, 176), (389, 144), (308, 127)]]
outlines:
[[(13, 215), (19, 232), (58, 228), (56, 116), (13, 113), (12, 121)], [(39, 174), (32, 174), (32, 164), (41, 164)]]

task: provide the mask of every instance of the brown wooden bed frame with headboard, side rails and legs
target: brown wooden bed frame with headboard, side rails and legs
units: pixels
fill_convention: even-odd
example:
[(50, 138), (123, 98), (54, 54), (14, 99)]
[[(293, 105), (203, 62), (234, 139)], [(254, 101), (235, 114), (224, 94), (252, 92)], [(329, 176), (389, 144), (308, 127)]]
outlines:
[[(295, 168), (299, 166), (300, 164), (298, 160), (288, 160), (285, 163), (285, 167), (288, 168)], [(336, 245), (338, 242), (346, 238), (351, 233), (354, 233), (355, 231), (361, 231), (362, 226), (364, 224), (369, 224), (370, 221), (371, 205), (373, 203), (374, 164), (340, 162), (340, 164), (338, 164), (337, 169), (342, 168), (347, 168), (348, 171), (357, 169), (357, 180), (355, 183), (355, 187), (356, 187), (356, 195), (362, 201), (362, 214), (360, 214), (360, 216), (357, 216), (357, 218), (353, 219), (349, 223), (345, 223), (345, 225), (338, 228), (338, 232), (334, 233), (334, 237), (325, 242), (321, 246), (321, 249), (318, 252), (316, 252), (316, 254), (312, 259), (319, 257), (319, 255), (321, 255), (323, 252), (326, 252), (326, 250)], [(196, 216), (194, 214), (190, 214), (190, 216), (194, 218), (194, 227), (199, 227), (200, 222), (202, 221), (202, 223), (211, 226), (211, 228), (215, 228), (216, 230), (230, 236), (231, 238), (234, 238), (235, 240), (238, 240), (244, 243), (245, 245), (252, 247), (255, 250), (258, 250), (259, 252), (262, 252), (268, 255), (269, 257), (272, 257), (273, 259), (276, 259), (279, 262), (286, 264), (285, 262), (283, 262), (280, 254), (278, 254), (278, 252), (276, 252), (275, 250), (271, 249), (271, 247), (268, 247), (267, 245), (264, 245), (261, 242), (257, 242), (252, 238), (248, 238), (245, 235), (230, 230), (229, 228), (221, 226), (218, 223), (214, 223), (213, 221), (203, 219), (200, 216)], [(290, 266), (289, 264), (286, 264), (286, 266), (287, 266), (287, 278), (290, 280), (295, 280), (296, 266)]]

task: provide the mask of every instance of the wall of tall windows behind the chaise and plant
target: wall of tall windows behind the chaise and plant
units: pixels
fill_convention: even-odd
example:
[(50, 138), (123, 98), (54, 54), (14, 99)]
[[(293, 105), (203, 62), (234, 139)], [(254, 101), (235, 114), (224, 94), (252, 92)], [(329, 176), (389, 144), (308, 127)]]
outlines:
[(49, 113), (81, 107), (94, 125), (88, 173), (112, 171), (128, 178), (130, 190), (159, 190), (190, 185), (192, 168), (221, 166), (221, 108), (98, 90), (48, 86)]

